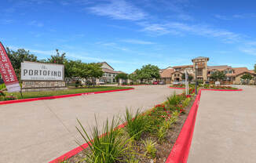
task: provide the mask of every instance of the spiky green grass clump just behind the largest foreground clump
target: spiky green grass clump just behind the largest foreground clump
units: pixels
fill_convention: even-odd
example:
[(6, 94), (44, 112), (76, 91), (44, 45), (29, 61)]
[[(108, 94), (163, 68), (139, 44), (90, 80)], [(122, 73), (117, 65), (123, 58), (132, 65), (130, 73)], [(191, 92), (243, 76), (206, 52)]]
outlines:
[(127, 108), (125, 114), (126, 121), (126, 131), (128, 132), (130, 138), (138, 140), (141, 138), (141, 133), (145, 130), (147, 125), (147, 120), (145, 116), (140, 115), (139, 109), (136, 114), (133, 115)]

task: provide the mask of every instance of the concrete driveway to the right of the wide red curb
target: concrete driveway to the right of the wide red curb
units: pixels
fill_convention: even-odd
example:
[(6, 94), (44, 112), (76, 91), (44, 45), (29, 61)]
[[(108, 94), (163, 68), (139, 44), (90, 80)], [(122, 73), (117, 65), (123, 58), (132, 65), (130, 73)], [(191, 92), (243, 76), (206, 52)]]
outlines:
[(256, 88), (203, 91), (188, 163), (256, 162)]

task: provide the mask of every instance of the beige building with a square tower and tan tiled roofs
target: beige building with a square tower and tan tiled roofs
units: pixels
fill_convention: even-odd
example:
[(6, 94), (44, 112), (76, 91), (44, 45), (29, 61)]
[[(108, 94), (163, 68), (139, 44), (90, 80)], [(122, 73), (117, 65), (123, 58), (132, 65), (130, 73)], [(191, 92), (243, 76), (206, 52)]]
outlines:
[(208, 61), (208, 57), (199, 56), (192, 59), (192, 65), (167, 67), (160, 71), (161, 80), (166, 82), (166, 84), (170, 84), (174, 81), (181, 82), (182, 74), (185, 74), (185, 71), (187, 71), (188, 74), (192, 75), (193, 80), (195, 80), (197, 76), (197, 80), (202, 82), (213, 82), (210, 79), (210, 75), (213, 74), (214, 71), (223, 71), (226, 78), (221, 81), (222, 84), (243, 84), (246, 82), (241, 78), (243, 74), (251, 74), (253, 79), (249, 83), (256, 84), (256, 73), (252, 70), (248, 70), (247, 67), (230, 67), (228, 65), (208, 66)]

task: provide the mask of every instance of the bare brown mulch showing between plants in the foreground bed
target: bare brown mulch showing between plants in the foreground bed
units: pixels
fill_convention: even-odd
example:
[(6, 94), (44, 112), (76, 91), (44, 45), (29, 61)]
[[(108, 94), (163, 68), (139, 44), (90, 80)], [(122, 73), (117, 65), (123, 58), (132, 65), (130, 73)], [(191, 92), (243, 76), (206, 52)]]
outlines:
[[(194, 103), (196, 99), (196, 96), (192, 96), (190, 103), (188, 107), (185, 107), (185, 112), (180, 114), (180, 116), (177, 118), (176, 123), (167, 131), (166, 139), (163, 142), (159, 142), (156, 136), (150, 136), (148, 133), (143, 133), (141, 136), (140, 141), (136, 141), (134, 144), (135, 152), (137, 153), (135, 155), (135, 159), (138, 162), (143, 163), (165, 163), (166, 159), (168, 158), (170, 151), (172, 147), (174, 146), (174, 143), (176, 142), (177, 137), (179, 136), (179, 133), (181, 132), (182, 126), (185, 123), (185, 120), (188, 117), (188, 113), (192, 107), (192, 104)], [(155, 148), (156, 148), (156, 157), (150, 158), (149, 156), (145, 156), (145, 150), (144, 150), (144, 144), (142, 143), (143, 139), (151, 138), (156, 142)], [(86, 157), (86, 154), (88, 154), (90, 150), (87, 148), (86, 150), (83, 150), (79, 154), (76, 154), (75, 156), (68, 159), (68, 163), (86, 163), (86, 161), (81, 161), (82, 158)]]

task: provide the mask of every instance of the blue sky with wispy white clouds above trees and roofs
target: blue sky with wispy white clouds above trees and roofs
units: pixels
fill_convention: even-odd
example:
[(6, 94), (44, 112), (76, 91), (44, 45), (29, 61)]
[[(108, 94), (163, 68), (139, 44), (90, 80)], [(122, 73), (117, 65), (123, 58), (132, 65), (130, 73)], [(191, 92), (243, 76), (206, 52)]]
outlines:
[(0, 0), (0, 41), (39, 59), (107, 61), (116, 71), (144, 64), (191, 64), (253, 69), (256, 2), (229, 0)]

